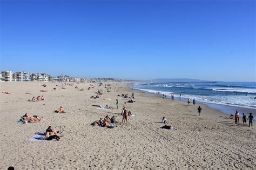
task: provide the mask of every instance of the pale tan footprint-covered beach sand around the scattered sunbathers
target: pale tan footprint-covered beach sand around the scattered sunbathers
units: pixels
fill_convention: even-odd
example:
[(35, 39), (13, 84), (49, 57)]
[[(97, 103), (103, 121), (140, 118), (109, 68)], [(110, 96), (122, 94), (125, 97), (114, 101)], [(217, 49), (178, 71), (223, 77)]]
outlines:
[[(116, 128), (91, 126), (106, 114), (122, 121), (120, 112), (128, 99), (117, 94), (132, 90), (127, 83), (110, 83), (110, 92), (104, 86), (87, 90), (89, 83), (64, 86), (61, 83), (2, 82), (0, 169), (167, 169), (167, 168), (242, 168), (255, 169), (254, 127), (234, 124), (226, 114), (205, 105), (201, 116), (196, 106), (183, 101), (162, 99), (161, 96), (134, 91), (136, 103), (127, 103), (135, 115), (127, 125)], [(56, 86), (58, 84), (59, 86)], [(105, 83), (104, 83), (105, 84)], [(108, 83), (106, 83), (108, 84)], [(84, 91), (78, 91), (84, 87)], [(56, 87), (56, 90), (53, 90)], [(119, 87), (119, 91), (114, 91)], [(99, 99), (90, 99), (97, 89), (103, 89)], [(48, 92), (40, 92), (46, 89)], [(25, 93), (31, 94), (25, 94)], [(29, 102), (33, 96), (44, 96), (45, 101)], [(112, 101), (104, 100), (110, 98)], [(98, 110), (92, 105), (114, 106), (118, 99), (120, 108)], [(53, 111), (63, 106), (67, 113)], [(39, 123), (18, 124), (18, 119), (29, 113), (39, 115)], [(159, 123), (165, 116), (177, 131), (161, 129)], [(240, 117), (241, 121), (241, 117)], [(248, 121), (247, 121), (248, 123)], [(44, 132), (51, 125), (62, 127), (64, 137), (59, 141), (31, 142), (36, 132)]]

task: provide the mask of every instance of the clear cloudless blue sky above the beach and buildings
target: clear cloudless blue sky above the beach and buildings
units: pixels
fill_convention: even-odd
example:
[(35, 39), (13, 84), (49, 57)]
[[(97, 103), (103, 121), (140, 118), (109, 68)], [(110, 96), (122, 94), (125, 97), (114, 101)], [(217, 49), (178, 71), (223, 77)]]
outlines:
[(2, 71), (256, 81), (255, 1), (0, 2)]

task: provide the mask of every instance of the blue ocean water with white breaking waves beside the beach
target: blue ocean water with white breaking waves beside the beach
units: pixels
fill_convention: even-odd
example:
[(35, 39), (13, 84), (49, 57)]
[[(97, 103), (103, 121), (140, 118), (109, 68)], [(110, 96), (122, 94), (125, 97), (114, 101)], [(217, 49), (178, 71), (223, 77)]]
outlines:
[[(256, 83), (255, 82), (175, 82), (133, 83), (131, 88), (147, 93), (165, 94), (174, 100), (187, 101), (188, 98), (196, 99), (197, 103), (207, 104), (221, 112), (234, 113), (236, 108), (243, 111), (256, 111)], [(181, 94), (181, 98), (180, 98)], [(255, 118), (256, 119), (256, 118)]]

